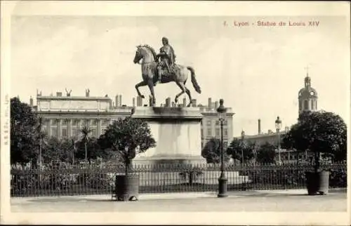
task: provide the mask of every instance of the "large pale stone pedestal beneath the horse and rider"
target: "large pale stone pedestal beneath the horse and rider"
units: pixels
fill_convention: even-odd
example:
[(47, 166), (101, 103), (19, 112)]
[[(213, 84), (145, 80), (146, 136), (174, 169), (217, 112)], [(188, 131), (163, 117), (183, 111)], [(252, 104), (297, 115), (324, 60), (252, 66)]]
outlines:
[(135, 107), (133, 118), (150, 125), (156, 147), (133, 159), (134, 165), (206, 164), (201, 157), (201, 119), (197, 107)]

